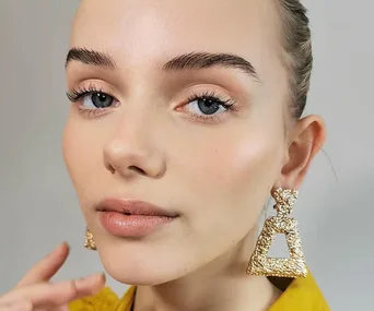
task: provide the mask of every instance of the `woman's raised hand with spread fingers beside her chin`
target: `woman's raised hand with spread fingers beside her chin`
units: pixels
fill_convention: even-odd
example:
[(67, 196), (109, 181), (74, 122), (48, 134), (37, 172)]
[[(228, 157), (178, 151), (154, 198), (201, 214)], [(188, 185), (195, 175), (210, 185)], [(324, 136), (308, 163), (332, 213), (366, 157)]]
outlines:
[(105, 286), (104, 274), (81, 279), (50, 283), (69, 255), (62, 243), (32, 267), (9, 292), (0, 296), (0, 311), (62, 311), (78, 298), (95, 295)]

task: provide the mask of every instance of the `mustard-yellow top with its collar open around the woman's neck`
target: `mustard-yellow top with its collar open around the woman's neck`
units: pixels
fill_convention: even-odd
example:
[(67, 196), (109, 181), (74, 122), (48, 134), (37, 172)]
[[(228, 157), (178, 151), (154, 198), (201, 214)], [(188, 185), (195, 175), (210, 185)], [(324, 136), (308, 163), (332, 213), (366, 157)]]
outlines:
[[(283, 279), (287, 282), (287, 279)], [(282, 279), (273, 278), (273, 284), (282, 288), (287, 286)], [(108, 287), (96, 296), (72, 301), (70, 311), (130, 311), (136, 292), (132, 286), (119, 299)], [(311, 273), (306, 278), (296, 278), (285, 288), (280, 298), (268, 311), (330, 311)]]

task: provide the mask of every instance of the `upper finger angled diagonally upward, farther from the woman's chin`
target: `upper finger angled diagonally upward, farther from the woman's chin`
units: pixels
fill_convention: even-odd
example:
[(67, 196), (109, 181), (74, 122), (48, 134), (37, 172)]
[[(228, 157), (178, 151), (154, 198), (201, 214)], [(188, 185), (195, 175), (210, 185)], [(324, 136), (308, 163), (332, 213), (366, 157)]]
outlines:
[(60, 244), (50, 254), (35, 264), (15, 287), (49, 280), (63, 265), (69, 255), (69, 251), (70, 248), (66, 242)]

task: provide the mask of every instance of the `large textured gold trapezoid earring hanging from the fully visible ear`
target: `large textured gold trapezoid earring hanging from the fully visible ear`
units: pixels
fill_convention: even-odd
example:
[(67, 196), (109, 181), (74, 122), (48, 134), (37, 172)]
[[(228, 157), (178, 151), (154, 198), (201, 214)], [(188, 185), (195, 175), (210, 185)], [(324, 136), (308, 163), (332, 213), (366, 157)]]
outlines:
[[(265, 220), (262, 231), (258, 237), (255, 251), (249, 260), (247, 274), (292, 278), (306, 277), (307, 268), (297, 222), (294, 218), (287, 217), (292, 212), (292, 207), (297, 199), (297, 191), (278, 188), (272, 191), (271, 195), (276, 200), (273, 207), (277, 211), (277, 216)], [(285, 235), (290, 259), (267, 256), (277, 234)]]

